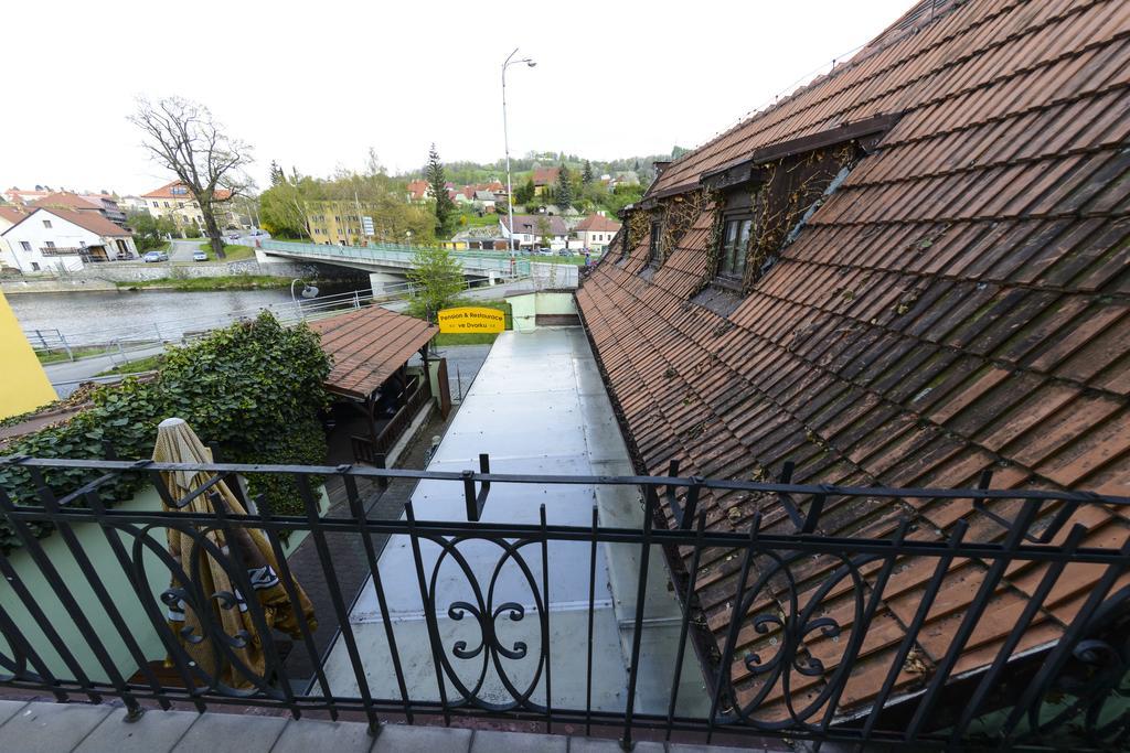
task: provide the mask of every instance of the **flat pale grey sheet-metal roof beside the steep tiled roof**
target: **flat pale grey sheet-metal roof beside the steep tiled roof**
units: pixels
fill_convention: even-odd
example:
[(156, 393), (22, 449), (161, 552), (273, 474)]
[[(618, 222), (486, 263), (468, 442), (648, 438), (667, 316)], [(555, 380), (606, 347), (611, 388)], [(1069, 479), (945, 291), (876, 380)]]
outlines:
[[(477, 470), (479, 453), (488, 453), (490, 470), (499, 473), (633, 473), (627, 447), (582, 329), (544, 327), (530, 333), (499, 335), (428, 470)], [(423, 481), (411, 499), (419, 520), (466, 519), (462, 490), (457, 484)], [(598, 509), (600, 524), (606, 526), (640, 526), (643, 517), (638, 491), (632, 488), (494, 484), (483, 520), (537, 524), (541, 505), (546, 507), (550, 524), (589, 526), (593, 507)], [(533, 684), (540, 646), (536, 594), (541, 593), (541, 544), (533, 542), (515, 548), (525, 568), (519, 567), (514, 557), (507, 557), (496, 543), (462, 541), (455, 549), (462, 555), (462, 563), (449, 554), (436, 571), (441, 546), (426, 541), (420, 546), (426, 576), (432, 578), (435, 571), (440, 641), (451, 671), (466, 688), (473, 688), (484, 667), (486, 653), (472, 659), (459, 659), (453, 654), (458, 641), (466, 642), (468, 648), (481, 642), (475, 616), (467, 610), (452, 610), (457, 602), (478, 604), (479, 597), (471, 585), (473, 579), (483, 601), (489, 601), (490, 611), (503, 603), (522, 607), (521, 619), (510, 619), (510, 611), (504, 611), (494, 620), (494, 625), (498, 642), (505, 648), (513, 649), (520, 641), (529, 647), (522, 659), (503, 659), (511, 683), (524, 690)], [(555, 709), (585, 707), (590, 554), (590, 544), (584, 542), (550, 542), (548, 546), (551, 704)], [(625, 708), (638, 555), (638, 546), (598, 545), (592, 642), (594, 710)], [(668, 590), (669, 576), (658, 546), (651, 553), (651, 563), (636, 710), (666, 713), (681, 612)], [(424, 604), (408, 536), (390, 539), (377, 567), (409, 693), (414, 699), (438, 700)], [(371, 692), (379, 698), (399, 699), (383, 618), (372, 583), (365, 585), (354, 604), (350, 623)], [(354, 671), (340, 638), (324, 668), (336, 694), (357, 693)], [(461, 695), (450, 677), (444, 676), (444, 683), (449, 701)], [(494, 666), (486, 668), (478, 698), (494, 703), (511, 700), (512, 694)], [(679, 698), (680, 712), (704, 713), (707, 708), (702, 672), (690, 648), (686, 651)], [(545, 673), (536, 683), (531, 700), (546, 703)]]

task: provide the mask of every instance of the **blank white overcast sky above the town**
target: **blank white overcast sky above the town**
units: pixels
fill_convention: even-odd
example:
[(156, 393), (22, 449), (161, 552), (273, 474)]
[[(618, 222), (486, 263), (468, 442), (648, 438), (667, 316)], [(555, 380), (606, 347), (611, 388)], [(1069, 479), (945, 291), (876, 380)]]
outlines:
[[(169, 180), (125, 116), (134, 97), (208, 105), (255, 149), (252, 177), (389, 170), (503, 154), (590, 158), (694, 147), (827, 70), (912, 0), (790, 2), (12, 2), (0, 183), (144, 193)], [(520, 56), (521, 56), (520, 54)]]

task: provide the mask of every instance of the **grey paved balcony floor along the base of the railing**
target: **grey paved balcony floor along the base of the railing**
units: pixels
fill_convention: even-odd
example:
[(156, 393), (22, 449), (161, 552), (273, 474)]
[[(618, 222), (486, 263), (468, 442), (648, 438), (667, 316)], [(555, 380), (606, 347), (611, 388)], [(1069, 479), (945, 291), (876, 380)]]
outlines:
[[(5, 753), (616, 753), (611, 739), (452, 727), (365, 724), (238, 713), (125, 710), (87, 703), (0, 701)], [(637, 753), (738, 753), (739, 748), (636, 743)], [(748, 753), (751, 750), (740, 748)]]

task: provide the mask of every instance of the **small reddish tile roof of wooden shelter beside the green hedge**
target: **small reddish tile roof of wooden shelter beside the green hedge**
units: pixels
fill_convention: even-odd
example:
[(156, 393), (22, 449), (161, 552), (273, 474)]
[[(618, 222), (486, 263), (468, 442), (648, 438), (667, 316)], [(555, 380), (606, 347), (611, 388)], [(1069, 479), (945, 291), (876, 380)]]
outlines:
[(440, 327), (380, 306), (368, 306), (311, 323), (322, 350), (333, 359), (325, 379), (330, 392), (363, 400), (380, 387)]

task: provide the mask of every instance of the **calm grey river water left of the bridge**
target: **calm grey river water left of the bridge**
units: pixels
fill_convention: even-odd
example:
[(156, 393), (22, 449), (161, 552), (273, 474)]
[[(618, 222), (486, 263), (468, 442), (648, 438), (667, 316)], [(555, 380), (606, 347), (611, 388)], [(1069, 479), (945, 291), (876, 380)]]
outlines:
[[(319, 286), (319, 298), (346, 292), (344, 287)], [(315, 299), (316, 300), (316, 299)], [(139, 290), (120, 292), (21, 294), (8, 296), (16, 318), (29, 339), (44, 331), (46, 340), (55, 330), (71, 345), (114, 340), (177, 340), (185, 332), (224, 326), (242, 317), (253, 317), (269, 308), (292, 314), (295, 305), (289, 289), (273, 290)]]

